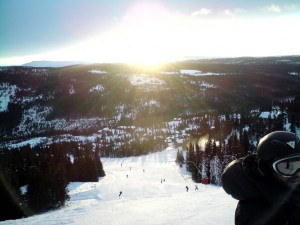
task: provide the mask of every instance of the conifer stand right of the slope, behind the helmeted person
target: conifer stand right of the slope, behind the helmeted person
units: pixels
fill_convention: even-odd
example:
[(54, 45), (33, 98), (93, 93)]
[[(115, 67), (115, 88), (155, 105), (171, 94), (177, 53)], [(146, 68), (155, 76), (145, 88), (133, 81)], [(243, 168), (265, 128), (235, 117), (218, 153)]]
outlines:
[(199, 122), (202, 126), (194, 134), (203, 134), (204, 128), (204, 132), (207, 132), (205, 144), (200, 146), (201, 138), (190, 140), (185, 152), (178, 150), (176, 162), (186, 163), (186, 169), (191, 172), (195, 182), (207, 179), (209, 183), (221, 186), (224, 168), (234, 159), (255, 154), (261, 137), (278, 130), (296, 132), (296, 128), (300, 126), (300, 112), (296, 106), (294, 100), (280, 102), (277, 105), (277, 115), (270, 115), (268, 118), (250, 114), (225, 116), (224, 120), (214, 118), (211, 119), (214, 120), (213, 129), (203, 125), (211, 123), (209, 119), (201, 120)]

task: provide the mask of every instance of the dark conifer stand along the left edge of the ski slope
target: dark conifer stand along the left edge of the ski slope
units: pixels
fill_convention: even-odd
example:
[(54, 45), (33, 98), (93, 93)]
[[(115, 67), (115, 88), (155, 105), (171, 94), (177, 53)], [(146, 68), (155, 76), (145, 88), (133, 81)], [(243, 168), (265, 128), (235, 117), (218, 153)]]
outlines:
[(91, 143), (0, 150), (0, 221), (56, 209), (69, 199), (69, 182), (105, 176), (100, 152)]

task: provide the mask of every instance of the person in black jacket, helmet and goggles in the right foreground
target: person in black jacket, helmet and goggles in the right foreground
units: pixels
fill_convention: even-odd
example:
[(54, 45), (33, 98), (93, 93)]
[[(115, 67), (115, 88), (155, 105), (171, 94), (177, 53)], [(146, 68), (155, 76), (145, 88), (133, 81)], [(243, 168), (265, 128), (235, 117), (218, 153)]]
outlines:
[(231, 162), (224, 190), (239, 200), (236, 225), (300, 224), (300, 141), (291, 132), (264, 136), (257, 154)]

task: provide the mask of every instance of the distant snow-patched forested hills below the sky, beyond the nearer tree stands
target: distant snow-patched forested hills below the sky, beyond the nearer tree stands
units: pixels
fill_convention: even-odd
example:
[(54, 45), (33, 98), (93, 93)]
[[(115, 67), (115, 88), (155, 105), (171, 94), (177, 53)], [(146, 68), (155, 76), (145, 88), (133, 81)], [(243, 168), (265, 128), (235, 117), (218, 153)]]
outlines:
[(178, 140), (175, 134), (184, 140), (204, 135), (212, 131), (216, 118), (228, 122), (242, 116), (247, 118), (238, 120), (243, 128), (249, 118), (257, 120), (275, 107), (297, 112), (299, 61), (193, 60), (155, 69), (126, 64), (2, 67), (1, 148), (37, 137), (94, 135), (101, 147), (112, 145), (111, 153), (118, 154), (125, 143), (150, 142), (146, 151), (151, 151), (168, 138)]

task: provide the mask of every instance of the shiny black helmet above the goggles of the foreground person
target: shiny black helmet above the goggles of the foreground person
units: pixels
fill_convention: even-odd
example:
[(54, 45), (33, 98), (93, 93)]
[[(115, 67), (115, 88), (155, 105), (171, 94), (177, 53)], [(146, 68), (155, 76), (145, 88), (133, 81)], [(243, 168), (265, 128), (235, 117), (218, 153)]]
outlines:
[(257, 146), (257, 157), (264, 161), (298, 154), (300, 155), (300, 141), (294, 133), (288, 131), (269, 133)]

